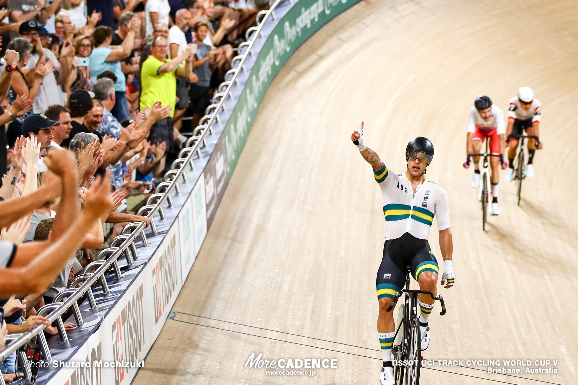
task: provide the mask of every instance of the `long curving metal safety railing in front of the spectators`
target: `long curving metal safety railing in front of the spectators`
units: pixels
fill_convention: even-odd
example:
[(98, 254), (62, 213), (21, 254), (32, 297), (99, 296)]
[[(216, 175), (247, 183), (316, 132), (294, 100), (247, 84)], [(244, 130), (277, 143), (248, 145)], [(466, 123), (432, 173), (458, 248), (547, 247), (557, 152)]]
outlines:
[[(205, 109), (205, 116), (201, 118), (199, 125), (192, 131), (192, 136), (187, 139), (185, 147), (180, 150), (179, 157), (172, 162), (172, 169), (166, 172), (163, 177), (163, 182), (159, 183), (155, 189), (155, 194), (152, 194), (147, 199), (147, 204), (139, 209), (137, 213), (138, 215), (146, 214), (150, 219), (150, 226), (153, 233), (156, 234), (157, 232), (157, 227), (154, 221), (155, 214), (158, 213), (161, 220), (165, 219), (164, 210), (162, 209), (163, 203), (166, 201), (169, 207), (173, 205), (171, 198), (172, 191), (175, 190), (177, 194), (180, 194), (178, 180), (182, 178), (183, 182), (187, 183), (187, 175), (185, 173), (186, 166), (190, 166), (191, 170), (194, 169), (195, 165), (193, 159), (195, 154), (197, 154), (198, 159), (201, 158), (200, 149), (203, 144), (206, 146), (206, 135), (208, 133), (214, 135), (211, 126), (215, 120), (220, 122), (218, 113), (221, 110), (225, 111), (225, 100), (232, 97), (231, 88), (236, 84), (239, 73), (244, 71), (245, 59), (248, 55), (251, 55), (251, 49), (253, 49), (255, 40), (258, 36), (262, 36), (261, 30), (263, 25), (270, 17), (272, 17), (273, 20), (276, 19), (275, 9), (279, 4), (286, 1), (292, 3), (295, 0), (276, 0), (270, 9), (261, 11), (257, 14), (257, 27), (251, 27), (247, 30), (247, 41), (239, 45), (239, 55), (233, 58), (231, 63), (232, 69), (225, 74), (225, 81), (217, 88), (218, 92), (213, 95), (212, 104)], [(62, 314), (67, 310), (72, 309), (76, 323), (80, 325), (84, 322), (77, 301), (86, 294), (90, 309), (97, 308), (97, 302), (94, 293), (92, 292), (92, 285), (95, 283), (100, 284), (102, 287), (102, 295), (106, 296), (109, 294), (105, 272), (108, 271), (108, 269), (113, 268), (114, 275), (117, 279), (120, 279), (123, 276), (117, 260), (120, 256), (124, 256), (127, 265), (131, 266), (134, 261), (138, 259), (138, 250), (135, 246), (136, 238), (140, 236), (142, 245), (148, 245), (146, 235), (144, 234), (144, 228), (144, 222), (129, 223), (126, 225), (123, 228), (121, 235), (116, 236), (116, 238), (112, 240), (110, 247), (102, 250), (101, 253), (98, 254), (97, 261), (88, 264), (83, 269), (82, 274), (74, 277), (74, 279), (69, 282), (68, 288), (54, 297), (53, 303), (49, 303), (38, 310), (38, 314), (40, 316), (46, 316), (50, 323), (56, 322), (58, 335), (62, 342), (68, 341), (64, 323), (61, 319)], [(80, 284), (80, 286), (76, 287), (78, 284)], [(9, 335), (5, 348), (0, 351), (0, 362), (5, 360), (6, 357), (14, 351), (20, 349), (20, 347), (26, 345), (36, 336), (38, 336), (39, 339), (38, 342), (44, 356), (43, 359), (50, 360), (52, 356), (45, 335), (42, 332), (46, 327), (46, 325), (38, 325), (30, 331)], [(23, 366), (24, 381), (27, 381), (30, 380), (31, 370), (29, 364), (25, 360), (25, 356), (23, 356), (24, 353), (20, 353), (23, 352), (19, 352), (18, 361), (20, 361), (20, 364)], [(0, 376), (0, 384), (5, 385), (2, 376)]]

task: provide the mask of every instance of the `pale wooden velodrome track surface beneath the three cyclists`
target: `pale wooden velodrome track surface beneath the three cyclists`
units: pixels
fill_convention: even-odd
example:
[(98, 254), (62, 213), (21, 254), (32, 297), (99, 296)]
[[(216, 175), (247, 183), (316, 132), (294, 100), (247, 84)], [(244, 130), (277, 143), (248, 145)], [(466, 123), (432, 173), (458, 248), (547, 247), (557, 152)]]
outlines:
[[(405, 171), (432, 140), (428, 178), (449, 195), (456, 284), (442, 289), (425, 358), (554, 359), (558, 374), (422, 369), (424, 384), (571, 384), (578, 374), (578, 8), (570, 0), (366, 0), (291, 58), (262, 103), (216, 219), (135, 384), (377, 384), (375, 276), (386, 223), (349, 136)], [(480, 94), (504, 111), (521, 86), (543, 103), (544, 149), (523, 186), (501, 173), (502, 214), (481, 231), (465, 160)], [(433, 253), (443, 266), (434, 223)], [(337, 358), (315, 376), (247, 369)], [(441, 371), (439, 370), (441, 369)], [(491, 381), (488, 381), (491, 380)]]

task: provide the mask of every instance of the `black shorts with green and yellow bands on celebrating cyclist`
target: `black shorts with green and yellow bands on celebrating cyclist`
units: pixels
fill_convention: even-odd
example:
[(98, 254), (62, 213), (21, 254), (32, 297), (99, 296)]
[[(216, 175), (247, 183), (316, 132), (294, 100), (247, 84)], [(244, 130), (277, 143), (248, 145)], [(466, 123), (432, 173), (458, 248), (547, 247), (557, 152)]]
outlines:
[(393, 298), (405, 284), (409, 266), (416, 281), (424, 271), (439, 275), (438, 261), (433, 256), (427, 239), (419, 239), (406, 232), (383, 245), (383, 259), (377, 271), (377, 299)]

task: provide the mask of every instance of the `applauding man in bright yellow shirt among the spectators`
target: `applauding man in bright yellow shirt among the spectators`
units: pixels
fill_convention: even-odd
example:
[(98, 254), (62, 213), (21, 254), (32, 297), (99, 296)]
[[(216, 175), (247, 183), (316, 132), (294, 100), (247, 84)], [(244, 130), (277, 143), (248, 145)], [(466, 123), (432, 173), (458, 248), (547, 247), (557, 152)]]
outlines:
[[(150, 129), (151, 143), (166, 143), (166, 153), (173, 149), (173, 114), (176, 104), (176, 76), (188, 76), (191, 73), (191, 59), (197, 52), (197, 45), (189, 44), (179, 56), (173, 60), (166, 58), (168, 44), (166, 39), (158, 36), (151, 44), (151, 55), (143, 62), (140, 70), (142, 94), (140, 95), (140, 110), (160, 101), (162, 105), (171, 105), (171, 114), (153, 124)], [(185, 62), (185, 65), (183, 65)], [(164, 168), (166, 155), (161, 160)]]

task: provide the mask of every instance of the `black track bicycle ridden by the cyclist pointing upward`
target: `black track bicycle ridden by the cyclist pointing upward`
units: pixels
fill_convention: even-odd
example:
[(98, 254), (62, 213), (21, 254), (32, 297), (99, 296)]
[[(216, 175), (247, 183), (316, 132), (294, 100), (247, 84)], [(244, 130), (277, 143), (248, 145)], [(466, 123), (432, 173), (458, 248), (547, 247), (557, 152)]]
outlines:
[[(441, 316), (446, 314), (446, 304), (443, 297), (434, 297), (429, 290), (410, 290), (409, 288), (410, 266), (406, 267), (405, 289), (394, 294), (390, 306), (386, 312), (391, 312), (399, 297), (405, 293), (404, 302), (399, 307), (398, 327), (394, 335), (394, 343), (391, 352), (394, 356), (394, 377), (397, 385), (418, 385), (420, 383), (421, 369), (421, 331), (420, 322), (417, 318), (417, 296), (418, 294), (429, 294), (436, 301), (442, 303)], [(400, 365), (400, 361), (406, 361), (405, 365)], [(403, 363), (403, 362), (402, 362)]]

